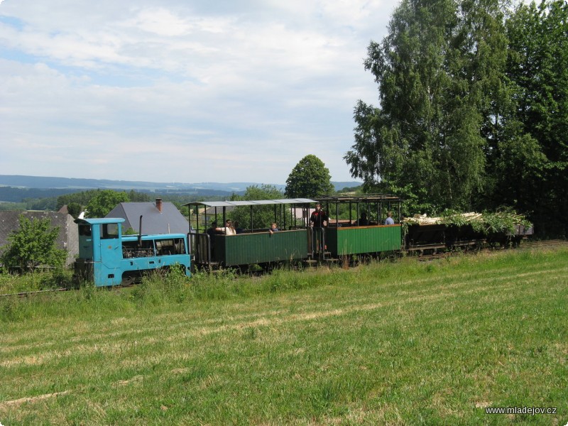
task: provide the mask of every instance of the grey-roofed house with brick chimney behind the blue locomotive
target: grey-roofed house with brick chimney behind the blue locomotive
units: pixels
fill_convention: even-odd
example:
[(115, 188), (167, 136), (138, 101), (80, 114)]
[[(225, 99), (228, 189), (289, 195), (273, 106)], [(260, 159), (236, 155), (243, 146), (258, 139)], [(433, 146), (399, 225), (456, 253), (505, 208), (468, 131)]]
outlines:
[(142, 217), (142, 234), (187, 234), (190, 224), (180, 213), (178, 207), (171, 202), (121, 202), (107, 214), (107, 217), (122, 217), (123, 232), (133, 229), (140, 232)]

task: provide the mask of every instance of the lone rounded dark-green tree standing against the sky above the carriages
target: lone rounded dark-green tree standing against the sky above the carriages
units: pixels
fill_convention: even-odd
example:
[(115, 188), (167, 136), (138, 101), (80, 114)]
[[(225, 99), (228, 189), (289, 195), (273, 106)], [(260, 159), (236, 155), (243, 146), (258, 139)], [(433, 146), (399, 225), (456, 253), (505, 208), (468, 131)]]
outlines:
[(286, 180), (285, 195), (289, 198), (315, 198), (332, 194), (334, 186), (329, 169), (320, 158), (306, 155), (292, 170)]

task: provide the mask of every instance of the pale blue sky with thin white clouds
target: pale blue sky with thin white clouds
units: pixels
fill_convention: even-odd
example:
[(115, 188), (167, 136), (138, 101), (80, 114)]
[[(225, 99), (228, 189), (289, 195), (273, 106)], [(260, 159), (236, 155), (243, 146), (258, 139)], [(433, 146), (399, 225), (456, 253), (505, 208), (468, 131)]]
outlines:
[(0, 175), (351, 181), (398, 0), (0, 0)]

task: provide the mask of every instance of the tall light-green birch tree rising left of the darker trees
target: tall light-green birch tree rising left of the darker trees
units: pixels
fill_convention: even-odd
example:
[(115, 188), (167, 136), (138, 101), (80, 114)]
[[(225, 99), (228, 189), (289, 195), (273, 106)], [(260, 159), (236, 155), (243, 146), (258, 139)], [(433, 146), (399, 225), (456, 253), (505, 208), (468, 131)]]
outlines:
[(469, 208), (485, 176), (480, 129), (501, 102), (503, 34), (497, 0), (403, 0), (368, 46), (381, 106), (356, 104), (351, 175), (430, 212)]

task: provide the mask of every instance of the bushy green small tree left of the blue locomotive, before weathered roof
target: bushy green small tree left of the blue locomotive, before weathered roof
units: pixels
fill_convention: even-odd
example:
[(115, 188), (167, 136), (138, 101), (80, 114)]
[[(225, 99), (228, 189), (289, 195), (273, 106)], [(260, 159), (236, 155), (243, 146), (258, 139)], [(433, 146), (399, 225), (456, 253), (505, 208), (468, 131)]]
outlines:
[(33, 271), (38, 266), (61, 267), (67, 253), (58, 249), (58, 227), (51, 227), (50, 220), (19, 218), (19, 228), (8, 236), (9, 244), (2, 251), (1, 263), (19, 271)]

